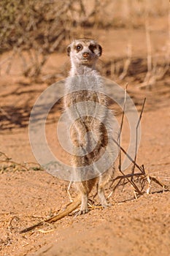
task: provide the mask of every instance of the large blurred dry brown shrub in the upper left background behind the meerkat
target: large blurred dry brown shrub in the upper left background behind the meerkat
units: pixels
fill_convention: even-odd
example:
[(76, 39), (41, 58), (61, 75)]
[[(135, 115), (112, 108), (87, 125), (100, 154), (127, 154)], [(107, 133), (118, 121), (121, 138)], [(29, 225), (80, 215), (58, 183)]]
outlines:
[[(13, 50), (23, 60), (23, 74), (37, 76), (47, 57), (63, 50), (63, 39), (69, 39), (77, 26), (74, 12), (81, 13), (82, 1), (2, 0), (0, 6), (1, 53)], [(78, 9), (74, 8), (78, 6)], [(28, 51), (26, 59), (23, 51)], [(9, 72), (9, 69), (7, 71)]]

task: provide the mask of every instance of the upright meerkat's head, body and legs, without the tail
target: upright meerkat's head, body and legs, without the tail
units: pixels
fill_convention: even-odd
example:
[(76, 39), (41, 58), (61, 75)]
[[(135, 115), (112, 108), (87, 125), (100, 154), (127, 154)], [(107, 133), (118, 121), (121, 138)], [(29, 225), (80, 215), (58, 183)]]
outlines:
[[(64, 107), (68, 109), (68, 118), (72, 121), (69, 133), (75, 182), (82, 200), (80, 214), (88, 212), (88, 195), (94, 186), (93, 181), (97, 181), (101, 205), (108, 206), (104, 186), (110, 175), (108, 171), (102, 173), (105, 157), (101, 156), (104, 151), (108, 153), (109, 133), (104, 124), (109, 124), (109, 112), (104, 81), (96, 71), (96, 61), (101, 53), (101, 45), (93, 39), (74, 40), (67, 48), (72, 67), (66, 80)], [(99, 163), (98, 168), (96, 161), (100, 158), (103, 163)]]

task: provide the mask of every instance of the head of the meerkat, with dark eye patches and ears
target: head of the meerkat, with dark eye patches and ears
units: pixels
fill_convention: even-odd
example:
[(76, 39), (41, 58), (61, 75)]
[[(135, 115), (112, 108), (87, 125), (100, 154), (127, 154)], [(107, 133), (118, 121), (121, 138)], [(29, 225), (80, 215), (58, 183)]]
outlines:
[(74, 65), (93, 66), (101, 53), (101, 45), (93, 39), (76, 39), (67, 47), (67, 54)]

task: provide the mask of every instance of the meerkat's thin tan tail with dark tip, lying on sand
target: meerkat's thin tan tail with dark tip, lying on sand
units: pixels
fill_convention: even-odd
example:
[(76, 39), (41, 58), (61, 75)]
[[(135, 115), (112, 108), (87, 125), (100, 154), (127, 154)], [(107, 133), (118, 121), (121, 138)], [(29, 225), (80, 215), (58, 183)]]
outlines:
[(45, 219), (43, 222), (39, 222), (36, 225), (26, 227), (24, 230), (20, 230), (19, 233), (26, 233), (28, 231), (34, 230), (36, 227), (40, 227), (45, 223), (57, 222), (59, 219), (66, 217), (67, 215), (71, 214), (72, 211), (76, 210), (77, 207), (80, 206), (81, 202), (82, 202), (81, 197), (77, 196), (75, 200), (72, 203), (70, 203), (69, 206), (67, 206), (66, 209), (62, 211), (60, 214), (50, 217), (49, 219)]

